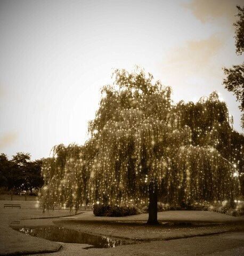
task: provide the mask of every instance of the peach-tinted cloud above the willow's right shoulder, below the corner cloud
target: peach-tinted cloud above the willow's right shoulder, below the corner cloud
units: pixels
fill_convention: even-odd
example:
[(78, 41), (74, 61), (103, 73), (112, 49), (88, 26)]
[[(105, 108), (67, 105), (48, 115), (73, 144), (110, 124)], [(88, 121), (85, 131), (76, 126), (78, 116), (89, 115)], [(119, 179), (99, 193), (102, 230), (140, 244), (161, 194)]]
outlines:
[(217, 35), (198, 41), (188, 41), (167, 54), (163, 69), (167, 72), (181, 71), (184, 76), (196, 75), (202, 71), (213, 73), (212, 62), (222, 45), (223, 40)]

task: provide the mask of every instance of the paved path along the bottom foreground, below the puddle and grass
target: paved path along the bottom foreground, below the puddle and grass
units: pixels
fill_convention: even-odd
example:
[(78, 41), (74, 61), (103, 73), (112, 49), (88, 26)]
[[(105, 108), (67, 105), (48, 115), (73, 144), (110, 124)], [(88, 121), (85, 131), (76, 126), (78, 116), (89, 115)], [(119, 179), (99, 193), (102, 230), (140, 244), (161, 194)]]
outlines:
[(62, 244), (63, 248), (51, 254), (29, 256), (242, 256), (244, 232), (214, 236), (182, 238), (169, 241), (117, 246), (108, 249), (88, 249), (87, 245)]

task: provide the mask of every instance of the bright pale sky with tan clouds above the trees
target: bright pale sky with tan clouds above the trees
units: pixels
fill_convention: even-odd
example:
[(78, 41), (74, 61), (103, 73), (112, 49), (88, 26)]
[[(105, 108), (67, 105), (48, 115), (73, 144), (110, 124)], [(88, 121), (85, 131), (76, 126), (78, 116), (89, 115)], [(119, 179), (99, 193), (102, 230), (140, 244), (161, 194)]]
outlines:
[(87, 123), (114, 69), (139, 65), (175, 102), (218, 91), (240, 126), (222, 67), (235, 54), (244, 0), (0, 0), (0, 153), (48, 157), (88, 138)]

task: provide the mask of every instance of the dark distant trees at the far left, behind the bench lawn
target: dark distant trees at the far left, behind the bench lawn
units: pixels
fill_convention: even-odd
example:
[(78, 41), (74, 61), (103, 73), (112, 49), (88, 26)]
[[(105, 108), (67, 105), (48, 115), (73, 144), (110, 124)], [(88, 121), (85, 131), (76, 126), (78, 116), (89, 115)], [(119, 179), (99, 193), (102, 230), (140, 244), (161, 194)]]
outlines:
[(0, 155), (0, 188), (17, 193), (30, 193), (43, 186), (42, 159), (31, 161), (29, 153), (17, 153), (8, 159)]

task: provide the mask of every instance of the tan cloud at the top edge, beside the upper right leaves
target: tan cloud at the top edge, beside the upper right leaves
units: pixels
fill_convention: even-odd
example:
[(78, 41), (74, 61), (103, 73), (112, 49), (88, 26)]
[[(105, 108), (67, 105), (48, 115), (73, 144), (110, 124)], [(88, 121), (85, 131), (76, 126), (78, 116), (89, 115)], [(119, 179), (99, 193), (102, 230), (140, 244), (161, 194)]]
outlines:
[(243, 5), (243, 0), (192, 0), (183, 6), (189, 9), (201, 22), (214, 21), (226, 18), (230, 25), (235, 21), (236, 5)]

